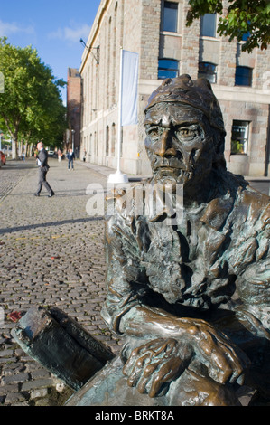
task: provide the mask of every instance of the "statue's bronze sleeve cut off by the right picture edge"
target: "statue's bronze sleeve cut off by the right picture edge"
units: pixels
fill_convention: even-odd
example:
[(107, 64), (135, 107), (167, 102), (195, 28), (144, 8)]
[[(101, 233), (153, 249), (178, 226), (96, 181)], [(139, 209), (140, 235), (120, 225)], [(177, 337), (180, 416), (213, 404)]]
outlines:
[[(250, 212), (245, 226), (239, 226), (234, 261), (237, 268), (237, 291), (243, 305), (247, 327), (270, 339), (270, 217), (269, 205), (258, 211), (256, 220)], [(252, 331), (253, 332), (253, 331)], [(253, 332), (254, 333), (254, 332)]]

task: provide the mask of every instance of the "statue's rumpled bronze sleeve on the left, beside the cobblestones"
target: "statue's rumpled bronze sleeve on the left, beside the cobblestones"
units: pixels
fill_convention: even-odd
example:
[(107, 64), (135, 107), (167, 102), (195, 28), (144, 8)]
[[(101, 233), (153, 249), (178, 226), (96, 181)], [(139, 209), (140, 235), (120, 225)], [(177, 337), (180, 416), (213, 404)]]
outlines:
[(143, 302), (149, 290), (132, 220), (116, 213), (106, 222), (107, 297), (101, 316), (118, 334), (121, 317)]

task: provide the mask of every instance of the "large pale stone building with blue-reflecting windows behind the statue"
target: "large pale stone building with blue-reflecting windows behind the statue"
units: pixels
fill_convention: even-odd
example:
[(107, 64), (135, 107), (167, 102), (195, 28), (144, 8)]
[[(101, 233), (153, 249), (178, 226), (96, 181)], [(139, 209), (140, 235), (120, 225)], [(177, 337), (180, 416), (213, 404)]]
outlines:
[[(224, 2), (225, 3), (225, 2)], [(138, 124), (122, 128), (121, 171), (149, 175), (144, 107), (166, 77), (207, 77), (223, 112), (228, 170), (269, 175), (270, 52), (241, 51), (217, 34), (216, 14), (186, 27), (187, 0), (101, 0), (82, 55), (81, 144), (116, 168), (120, 48), (139, 53)], [(81, 149), (81, 155), (82, 155)]]

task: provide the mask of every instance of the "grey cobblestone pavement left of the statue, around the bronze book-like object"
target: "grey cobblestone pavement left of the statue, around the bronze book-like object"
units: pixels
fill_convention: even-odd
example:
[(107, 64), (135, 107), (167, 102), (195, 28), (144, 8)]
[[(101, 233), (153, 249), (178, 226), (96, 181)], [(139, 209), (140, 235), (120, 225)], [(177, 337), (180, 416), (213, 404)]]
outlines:
[[(88, 184), (106, 176), (78, 161), (50, 160), (48, 181), (56, 193), (33, 196), (38, 172), (33, 160), (12, 162), (0, 172), (0, 404), (59, 405), (70, 389), (16, 345), (9, 315), (33, 306), (56, 306), (76, 318), (117, 353), (99, 312), (105, 298), (104, 222), (89, 217)], [(2, 324), (3, 325), (3, 324)]]

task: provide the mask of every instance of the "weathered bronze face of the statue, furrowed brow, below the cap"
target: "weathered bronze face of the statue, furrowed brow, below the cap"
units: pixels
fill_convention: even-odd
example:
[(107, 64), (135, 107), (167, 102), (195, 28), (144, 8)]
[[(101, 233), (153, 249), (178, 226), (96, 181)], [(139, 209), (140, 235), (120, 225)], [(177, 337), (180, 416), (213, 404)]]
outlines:
[(214, 148), (209, 122), (198, 109), (180, 103), (159, 103), (145, 118), (145, 148), (154, 179), (196, 183), (212, 168)]

